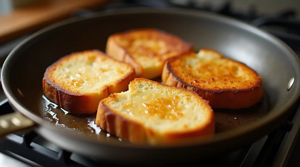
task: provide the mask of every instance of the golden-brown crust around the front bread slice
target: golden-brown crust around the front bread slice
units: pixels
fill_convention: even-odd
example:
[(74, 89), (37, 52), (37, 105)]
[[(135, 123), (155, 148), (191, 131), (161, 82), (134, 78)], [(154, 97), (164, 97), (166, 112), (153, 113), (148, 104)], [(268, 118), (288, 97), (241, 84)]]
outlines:
[[(144, 78), (136, 78), (134, 81), (148, 80)], [(155, 84), (158, 82), (148, 80)], [(114, 134), (123, 140), (128, 140), (134, 144), (150, 144), (150, 145), (170, 145), (185, 143), (189, 140), (199, 140), (204, 138), (210, 138), (214, 136), (215, 124), (214, 124), (214, 112), (209, 105), (209, 102), (202, 99), (198, 94), (193, 91), (160, 84), (166, 89), (179, 89), (184, 93), (192, 94), (204, 102), (206, 107), (209, 109), (209, 115), (207, 122), (204, 126), (199, 126), (194, 129), (182, 129), (182, 131), (170, 131), (160, 136), (155, 133), (151, 128), (144, 127), (143, 124), (137, 122), (131, 118), (118, 114), (113, 108), (110, 108), (105, 104), (112, 98), (116, 98), (117, 94), (111, 94), (108, 98), (101, 100), (99, 103), (95, 124), (98, 125), (102, 130), (107, 131), (110, 134)], [(131, 85), (129, 85), (131, 86)], [(132, 89), (135, 89), (132, 87)]]

